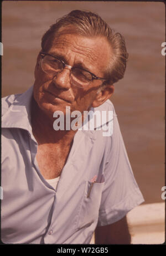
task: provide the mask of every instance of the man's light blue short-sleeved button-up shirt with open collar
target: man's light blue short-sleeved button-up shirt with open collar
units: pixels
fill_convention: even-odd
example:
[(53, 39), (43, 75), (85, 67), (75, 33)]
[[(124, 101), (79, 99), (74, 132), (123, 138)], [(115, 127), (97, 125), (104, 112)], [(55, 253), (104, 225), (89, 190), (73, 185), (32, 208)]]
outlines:
[[(30, 124), (33, 86), (2, 99), (1, 239), (4, 243), (89, 244), (96, 226), (123, 218), (144, 199), (113, 111), (113, 134), (77, 131), (56, 190), (41, 175)], [(34, 110), (35, 111), (35, 110)], [(91, 186), (91, 179), (97, 176)]]

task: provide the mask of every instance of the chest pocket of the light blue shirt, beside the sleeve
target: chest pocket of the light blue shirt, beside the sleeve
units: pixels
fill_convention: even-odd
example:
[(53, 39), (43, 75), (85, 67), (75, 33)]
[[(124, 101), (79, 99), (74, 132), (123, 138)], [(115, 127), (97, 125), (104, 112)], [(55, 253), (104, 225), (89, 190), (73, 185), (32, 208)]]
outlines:
[(79, 214), (76, 221), (76, 229), (90, 226), (91, 223), (98, 219), (98, 211), (100, 208), (102, 188), (104, 184), (104, 176), (102, 176), (101, 182), (94, 182), (93, 185), (91, 181), (85, 182), (84, 197), (80, 203)]

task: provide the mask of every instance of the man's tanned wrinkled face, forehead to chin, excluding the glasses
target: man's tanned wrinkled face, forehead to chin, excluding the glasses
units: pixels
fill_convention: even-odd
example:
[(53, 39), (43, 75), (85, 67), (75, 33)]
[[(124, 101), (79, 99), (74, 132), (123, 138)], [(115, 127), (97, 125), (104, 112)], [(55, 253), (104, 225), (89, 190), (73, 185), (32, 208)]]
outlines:
[[(103, 78), (110, 59), (110, 46), (103, 37), (87, 38), (66, 33), (54, 39), (48, 53), (64, 60), (70, 66), (79, 66)], [(66, 106), (70, 106), (71, 111), (83, 112), (91, 107), (101, 84), (101, 80), (92, 80), (86, 88), (72, 85), (68, 68), (50, 78), (50, 75), (42, 70), (38, 57), (35, 67), (34, 99), (40, 109), (51, 117), (57, 110), (65, 114)]]

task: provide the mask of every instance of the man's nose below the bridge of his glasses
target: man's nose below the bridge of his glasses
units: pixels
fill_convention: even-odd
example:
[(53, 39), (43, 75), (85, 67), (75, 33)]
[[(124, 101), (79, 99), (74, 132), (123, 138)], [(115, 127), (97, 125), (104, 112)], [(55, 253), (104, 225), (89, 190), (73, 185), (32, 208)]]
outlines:
[(54, 76), (53, 82), (59, 89), (70, 88), (70, 69), (64, 68), (60, 73)]

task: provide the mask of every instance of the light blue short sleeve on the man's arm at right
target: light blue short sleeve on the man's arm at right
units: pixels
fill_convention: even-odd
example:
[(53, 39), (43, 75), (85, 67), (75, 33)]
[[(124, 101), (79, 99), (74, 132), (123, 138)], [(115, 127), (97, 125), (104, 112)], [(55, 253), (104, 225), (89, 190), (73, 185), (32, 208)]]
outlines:
[(144, 202), (134, 178), (126, 148), (113, 108), (113, 134), (107, 137), (104, 165), (105, 185), (102, 191), (97, 226), (117, 222)]

